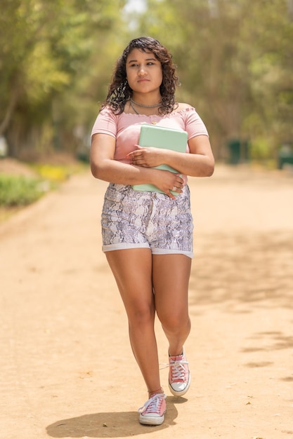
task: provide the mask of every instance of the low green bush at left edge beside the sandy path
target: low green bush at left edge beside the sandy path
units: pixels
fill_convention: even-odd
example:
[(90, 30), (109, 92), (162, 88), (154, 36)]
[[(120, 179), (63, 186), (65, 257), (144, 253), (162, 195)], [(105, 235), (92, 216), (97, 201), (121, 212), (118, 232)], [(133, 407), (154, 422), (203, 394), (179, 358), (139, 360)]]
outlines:
[(0, 175), (0, 205), (27, 205), (37, 201), (48, 189), (47, 182), (34, 178)]

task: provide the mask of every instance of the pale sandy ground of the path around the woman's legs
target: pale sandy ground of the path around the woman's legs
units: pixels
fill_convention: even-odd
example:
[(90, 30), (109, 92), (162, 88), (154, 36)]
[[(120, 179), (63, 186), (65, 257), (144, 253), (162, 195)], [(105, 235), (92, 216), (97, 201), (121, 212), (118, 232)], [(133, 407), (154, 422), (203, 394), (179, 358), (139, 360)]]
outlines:
[[(293, 177), (218, 166), (190, 179), (192, 386), (162, 426), (100, 250), (106, 184), (89, 173), (0, 226), (0, 438), (293, 436)], [(159, 357), (167, 342), (157, 323)]]

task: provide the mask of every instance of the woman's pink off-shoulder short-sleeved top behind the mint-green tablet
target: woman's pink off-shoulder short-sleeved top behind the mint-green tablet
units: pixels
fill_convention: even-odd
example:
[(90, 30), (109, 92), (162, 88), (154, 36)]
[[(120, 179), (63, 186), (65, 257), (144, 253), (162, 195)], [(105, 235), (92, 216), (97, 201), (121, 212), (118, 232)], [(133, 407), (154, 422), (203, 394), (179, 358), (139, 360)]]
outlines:
[[(157, 126), (187, 131), (188, 140), (197, 135), (208, 135), (207, 128), (193, 107), (187, 107), (164, 116), (113, 114), (109, 108), (105, 107), (98, 114), (91, 135), (102, 133), (115, 137), (115, 160), (130, 163), (126, 155), (137, 149), (135, 145), (138, 144), (142, 123), (155, 123)], [(188, 145), (186, 145), (186, 152), (189, 152)]]

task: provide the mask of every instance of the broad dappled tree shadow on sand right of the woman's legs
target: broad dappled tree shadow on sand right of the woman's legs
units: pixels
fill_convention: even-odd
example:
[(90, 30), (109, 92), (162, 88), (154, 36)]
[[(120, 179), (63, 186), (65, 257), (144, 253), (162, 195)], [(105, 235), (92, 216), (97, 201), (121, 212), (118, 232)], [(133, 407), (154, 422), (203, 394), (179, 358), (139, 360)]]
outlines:
[(199, 236), (190, 305), (222, 304), (227, 312), (232, 302), (249, 304), (250, 310), (252, 304), (292, 308), (292, 238), (287, 231)]

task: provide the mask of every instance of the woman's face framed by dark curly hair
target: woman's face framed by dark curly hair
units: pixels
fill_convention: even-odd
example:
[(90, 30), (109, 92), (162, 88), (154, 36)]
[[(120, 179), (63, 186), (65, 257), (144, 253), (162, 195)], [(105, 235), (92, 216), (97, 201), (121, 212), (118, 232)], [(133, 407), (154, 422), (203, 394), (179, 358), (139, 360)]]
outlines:
[(136, 93), (159, 91), (162, 84), (162, 65), (152, 52), (133, 49), (126, 58), (126, 78)]

